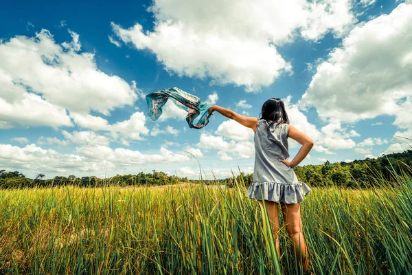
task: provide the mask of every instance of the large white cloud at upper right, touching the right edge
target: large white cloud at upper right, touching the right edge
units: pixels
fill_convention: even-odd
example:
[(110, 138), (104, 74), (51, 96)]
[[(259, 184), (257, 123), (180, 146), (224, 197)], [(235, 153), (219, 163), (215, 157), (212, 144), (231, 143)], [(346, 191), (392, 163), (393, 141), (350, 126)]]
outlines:
[(357, 122), (395, 115), (411, 126), (412, 5), (400, 4), (358, 25), (327, 61), (317, 66), (301, 107), (314, 106), (323, 120)]

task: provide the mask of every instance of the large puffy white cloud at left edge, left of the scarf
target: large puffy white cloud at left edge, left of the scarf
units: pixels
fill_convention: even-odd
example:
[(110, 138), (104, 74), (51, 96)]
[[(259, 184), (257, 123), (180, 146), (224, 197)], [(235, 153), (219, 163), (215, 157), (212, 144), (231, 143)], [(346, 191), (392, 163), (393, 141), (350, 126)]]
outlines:
[(0, 41), (0, 125), (71, 126), (66, 109), (87, 114), (110, 111), (137, 99), (137, 88), (101, 72), (94, 54), (80, 51), (80, 39), (58, 45), (41, 30), (35, 37)]

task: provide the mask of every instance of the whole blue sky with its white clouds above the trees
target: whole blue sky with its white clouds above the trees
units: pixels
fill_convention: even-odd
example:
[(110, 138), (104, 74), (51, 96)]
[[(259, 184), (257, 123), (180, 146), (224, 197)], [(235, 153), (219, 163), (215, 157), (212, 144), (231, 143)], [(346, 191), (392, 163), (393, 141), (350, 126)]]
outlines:
[[(0, 168), (30, 177), (251, 173), (253, 135), (189, 129), (144, 95), (179, 87), (258, 117), (284, 98), (315, 147), (304, 164), (378, 157), (412, 137), (412, 3), (32, 1), (0, 10)], [(219, 9), (216, 9), (219, 6)], [(290, 143), (293, 157), (299, 147)]]

